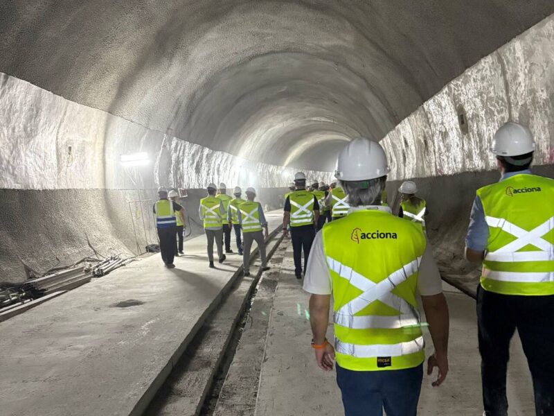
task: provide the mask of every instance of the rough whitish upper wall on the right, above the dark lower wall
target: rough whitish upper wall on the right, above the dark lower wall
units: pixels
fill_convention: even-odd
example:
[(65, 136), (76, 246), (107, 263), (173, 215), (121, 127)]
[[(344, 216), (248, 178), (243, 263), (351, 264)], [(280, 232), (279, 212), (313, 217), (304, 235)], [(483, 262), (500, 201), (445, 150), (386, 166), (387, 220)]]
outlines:
[(382, 140), (391, 179), (493, 169), (490, 141), (509, 120), (533, 131), (535, 164), (554, 163), (553, 56), (554, 15), (447, 84)]

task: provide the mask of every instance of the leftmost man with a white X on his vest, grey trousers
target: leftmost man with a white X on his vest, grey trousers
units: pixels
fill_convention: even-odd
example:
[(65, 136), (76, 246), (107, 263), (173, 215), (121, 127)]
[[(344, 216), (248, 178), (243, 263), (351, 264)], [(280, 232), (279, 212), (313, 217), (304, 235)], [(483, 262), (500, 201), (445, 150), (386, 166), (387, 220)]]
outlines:
[(208, 239), (208, 260), (210, 261), (210, 268), (215, 268), (213, 265), (214, 241), (220, 263), (223, 263), (226, 259), (225, 254), (223, 254), (223, 219), (226, 218), (226, 211), (223, 207), (223, 201), (215, 196), (216, 190), (217, 187), (215, 184), (209, 184), (208, 196), (200, 200), (200, 206), (198, 208), (198, 216), (204, 223), (204, 232), (206, 232), (206, 239)]

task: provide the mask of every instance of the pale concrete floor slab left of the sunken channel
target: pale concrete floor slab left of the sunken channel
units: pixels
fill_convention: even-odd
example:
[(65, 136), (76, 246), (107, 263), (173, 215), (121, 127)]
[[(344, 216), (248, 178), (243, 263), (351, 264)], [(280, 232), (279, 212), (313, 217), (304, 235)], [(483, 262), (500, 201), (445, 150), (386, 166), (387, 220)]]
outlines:
[(242, 261), (208, 268), (205, 241), (175, 269), (157, 254), (2, 322), (2, 413), (139, 415)]

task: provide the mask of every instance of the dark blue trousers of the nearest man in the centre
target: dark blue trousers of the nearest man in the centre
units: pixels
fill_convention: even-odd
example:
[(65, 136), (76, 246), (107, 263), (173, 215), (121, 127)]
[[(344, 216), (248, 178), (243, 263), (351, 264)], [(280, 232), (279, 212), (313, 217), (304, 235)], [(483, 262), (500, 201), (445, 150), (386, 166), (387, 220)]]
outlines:
[(337, 365), (346, 416), (415, 416), (423, 364), (406, 370), (352, 371)]

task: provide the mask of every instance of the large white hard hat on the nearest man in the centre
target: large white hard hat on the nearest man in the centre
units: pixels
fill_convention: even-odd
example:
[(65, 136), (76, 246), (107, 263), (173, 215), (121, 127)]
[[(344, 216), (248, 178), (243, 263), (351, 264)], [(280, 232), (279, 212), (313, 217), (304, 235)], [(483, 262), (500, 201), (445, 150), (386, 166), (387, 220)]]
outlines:
[(347, 181), (368, 180), (382, 177), (390, 171), (381, 145), (376, 141), (357, 137), (339, 153), (334, 177)]

